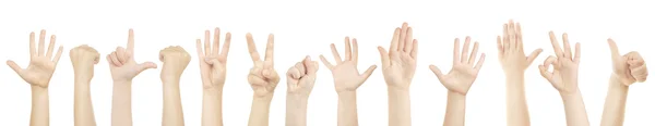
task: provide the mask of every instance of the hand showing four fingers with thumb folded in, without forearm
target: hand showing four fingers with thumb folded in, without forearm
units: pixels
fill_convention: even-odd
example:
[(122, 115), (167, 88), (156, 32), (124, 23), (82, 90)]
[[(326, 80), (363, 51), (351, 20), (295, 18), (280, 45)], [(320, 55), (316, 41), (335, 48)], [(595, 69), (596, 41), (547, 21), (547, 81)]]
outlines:
[(225, 42), (223, 43), (223, 51), (221, 53), (218, 53), (221, 29), (218, 29), (218, 27), (214, 29), (213, 47), (210, 43), (210, 30), (205, 30), (204, 52), (201, 40), (195, 40), (195, 50), (198, 51), (198, 59), (200, 60), (200, 74), (205, 89), (223, 87), (225, 84), (225, 72), (227, 68), (225, 64), (227, 63), (227, 53), (229, 52), (231, 34), (225, 34)]

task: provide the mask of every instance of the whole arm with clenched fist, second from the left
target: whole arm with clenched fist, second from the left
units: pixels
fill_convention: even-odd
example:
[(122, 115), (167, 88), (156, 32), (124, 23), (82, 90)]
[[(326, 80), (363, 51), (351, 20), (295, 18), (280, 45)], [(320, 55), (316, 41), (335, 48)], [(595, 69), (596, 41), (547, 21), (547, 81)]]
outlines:
[(71, 49), (70, 58), (75, 74), (75, 126), (95, 126), (90, 83), (93, 78), (93, 67), (98, 63), (100, 53), (84, 45)]

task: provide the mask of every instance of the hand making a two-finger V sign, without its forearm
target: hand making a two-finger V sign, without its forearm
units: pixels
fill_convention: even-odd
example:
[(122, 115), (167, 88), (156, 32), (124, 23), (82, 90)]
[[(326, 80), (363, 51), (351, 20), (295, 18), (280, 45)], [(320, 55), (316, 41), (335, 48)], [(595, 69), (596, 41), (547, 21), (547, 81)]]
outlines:
[(248, 83), (250, 83), (255, 96), (264, 97), (266, 94), (272, 94), (275, 90), (275, 86), (277, 86), (277, 83), (279, 83), (279, 76), (273, 67), (273, 34), (269, 35), (269, 43), (266, 43), (264, 61), (260, 59), (260, 55), (257, 52), (257, 47), (254, 46), (254, 40), (252, 39), (252, 35), (250, 33), (246, 35), (246, 39), (248, 41), (250, 58), (252, 58), (252, 62), (254, 64), (254, 66), (250, 68)]

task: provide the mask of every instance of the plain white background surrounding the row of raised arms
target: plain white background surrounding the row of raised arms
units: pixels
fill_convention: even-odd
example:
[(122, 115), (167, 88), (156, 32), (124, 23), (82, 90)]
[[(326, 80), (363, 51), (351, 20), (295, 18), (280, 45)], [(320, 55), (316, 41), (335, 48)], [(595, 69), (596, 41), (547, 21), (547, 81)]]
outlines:
[[(90, 45), (103, 58), (95, 67), (91, 91), (96, 122), (110, 125), (112, 83), (104, 56), (126, 46), (128, 28), (134, 28), (136, 61), (153, 61), (160, 66), (157, 54), (168, 46), (182, 46), (193, 60), (182, 75), (180, 91), (188, 126), (199, 126), (202, 111), (202, 87), (194, 42), (205, 29), (221, 27), (233, 33), (228, 79), (223, 93), (224, 124), (243, 126), (248, 122), (252, 89), (246, 75), (252, 66), (247, 51), (246, 33), (251, 32), (264, 52), (266, 35), (275, 34), (275, 67), (281, 75), (306, 54), (318, 60), (319, 54), (332, 59), (329, 45), (334, 42), (343, 53), (345, 36), (359, 40), (359, 68), (380, 64), (377, 46), (389, 48), (394, 27), (408, 22), (419, 40), (418, 68), (412, 84), (412, 121), (416, 126), (441, 125), (446, 104), (446, 90), (429, 71), (436, 64), (450, 70), (455, 37), (472, 36), (480, 42), (487, 61), (467, 94), (466, 124), (488, 126), (505, 124), (505, 84), (496, 49), (496, 36), (510, 18), (521, 22), (526, 53), (543, 48), (544, 53), (526, 71), (525, 91), (531, 122), (535, 126), (565, 125), (559, 93), (544, 79), (537, 68), (547, 55), (553, 54), (548, 32), (569, 33), (570, 40), (582, 43), (580, 89), (592, 125), (598, 125), (603, 113), (610, 53), (606, 39), (614, 38), (627, 53), (639, 50), (646, 62), (653, 58), (655, 9), (650, 2), (638, 3), (597, 0), (520, 2), (479, 1), (0, 1), (1, 59), (14, 60), (27, 66), (28, 35), (47, 29), (57, 35), (57, 45), (64, 53), (50, 80), (50, 124), (73, 125), (73, 71), (69, 50)], [(559, 36), (558, 36), (559, 38)], [(263, 53), (262, 53), (263, 54)], [(342, 56), (343, 58), (343, 56)], [(331, 60), (332, 61), (332, 60)], [(26, 126), (29, 123), (31, 89), (7, 65), (0, 66), (0, 125)], [(133, 81), (132, 113), (135, 126), (160, 125), (160, 70), (143, 72)], [(358, 89), (358, 114), (361, 126), (383, 126), (388, 123), (386, 86), (380, 67)], [(276, 88), (271, 105), (270, 124), (283, 126), (285, 118), (286, 80)], [(655, 125), (653, 116), (655, 85), (631, 86), (626, 112), (626, 125)], [(309, 98), (308, 125), (336, 125), (337, 96), (330, 71), (321, 64), (315, 87)]]

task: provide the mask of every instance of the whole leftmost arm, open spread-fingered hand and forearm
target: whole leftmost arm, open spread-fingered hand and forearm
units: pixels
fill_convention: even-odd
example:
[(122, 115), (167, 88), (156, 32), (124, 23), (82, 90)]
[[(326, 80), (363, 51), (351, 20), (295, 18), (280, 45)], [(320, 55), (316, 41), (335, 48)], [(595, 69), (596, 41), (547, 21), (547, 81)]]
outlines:
[(29, 117), (29, 126), (48, 126), (50, 125), (50, 109), (48, 98), (48, 85), (55, 73), (57, 62), (61, 58), (63, 47), (59, 46), (57, 53), (55, 52), (56, 36), (50, 37), (48, 50), (44, 48), (46, 41), (46, 30), (40, 30), (38, 47), (35, 46), (35, 34), (29, 34), (29, 65), (22, 68), (14, 61), (8, 60), (7, 65), (11, 67), (23, 80), (32, 86), (32, 114)]

